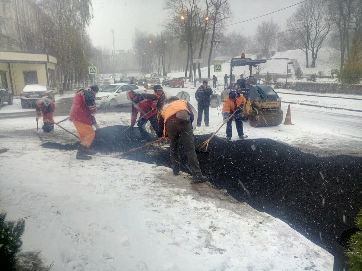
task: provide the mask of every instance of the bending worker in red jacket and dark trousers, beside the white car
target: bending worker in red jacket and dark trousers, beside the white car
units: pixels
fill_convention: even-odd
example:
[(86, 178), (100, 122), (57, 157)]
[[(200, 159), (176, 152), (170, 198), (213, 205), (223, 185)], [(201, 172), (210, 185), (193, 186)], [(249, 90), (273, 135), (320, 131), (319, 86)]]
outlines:
[(131, 126), (135, 125), (138, 112), (140, 112), (140, 118), (138, 121), (138, 129), (143, 137), (142, 142), (146, 142), (149, 138), (149, 134), (144, 128), (144, 124), (150, 120), (152, 128), (158, 133), (159, 126), (157, 120), (157, 96), (153, 94), (139, 94), (133, 90), (127, 92), (127, 99), (132, 104), (132, 116)]

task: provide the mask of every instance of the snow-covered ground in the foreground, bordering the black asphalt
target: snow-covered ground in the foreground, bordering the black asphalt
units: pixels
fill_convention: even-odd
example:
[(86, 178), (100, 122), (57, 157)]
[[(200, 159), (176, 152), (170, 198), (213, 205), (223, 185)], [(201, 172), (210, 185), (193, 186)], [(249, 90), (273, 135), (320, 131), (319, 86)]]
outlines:
[[(97, 118), (111, 125), (120, 114)], [(202, 197), (185, 173), (43, 149), (33, 118), (0, 125), (1, 147), (9, 148), (0, 156), (1, 206), (8, 219), (26, 219), (24, 250), (41, 250), (52, 270), (332, 269), (332, 255), (286, 223), (245, 203)]]

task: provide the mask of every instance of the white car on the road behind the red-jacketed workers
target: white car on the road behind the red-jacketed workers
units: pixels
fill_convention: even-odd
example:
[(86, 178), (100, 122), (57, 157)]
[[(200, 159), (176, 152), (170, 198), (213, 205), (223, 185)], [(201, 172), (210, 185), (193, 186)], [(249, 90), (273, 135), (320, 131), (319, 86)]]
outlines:
[(106, 86), (96, 94), (96, 106), (100, 109), (119, 104), (129, 104), (127, 91), (134, 90), (139, 93), (146, 93), (146, 89), (133, 84), (117, 83)]

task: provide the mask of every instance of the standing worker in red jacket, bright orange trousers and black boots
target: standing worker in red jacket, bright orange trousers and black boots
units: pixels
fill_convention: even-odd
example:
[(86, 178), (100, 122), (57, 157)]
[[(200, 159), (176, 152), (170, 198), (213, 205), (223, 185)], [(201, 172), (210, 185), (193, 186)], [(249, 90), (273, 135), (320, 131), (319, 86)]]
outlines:
[(87, 154), (92, 154), (88, 148), (96, 135), (92, 125), (97, 129), (99, 128), (99, 125), (94, 118), (94, 115), (97, 113), (95, 101), (97, 92), (97, 86), (79, 90), (73, 99), (73, 104), (70, 109), (69, 119), (73, 121), (80, 138), (79, 149), (76, 156), (77, 159), (92, 159), (92, 156)]

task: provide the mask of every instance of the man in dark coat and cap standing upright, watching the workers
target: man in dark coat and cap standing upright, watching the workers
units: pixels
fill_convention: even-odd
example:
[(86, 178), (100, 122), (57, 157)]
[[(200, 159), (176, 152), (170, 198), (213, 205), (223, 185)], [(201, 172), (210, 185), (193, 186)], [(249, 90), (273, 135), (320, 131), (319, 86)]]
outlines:
[(204, 122), (206, 127), (209, 127), (209, 106), (210, 96), (212, 95), (212, 89), (207, 85), (207, 81), (204, 80), (202, 85), (195, 92), (195, 98), (197, 100), (197, 126), (201, 125), (202, 112), (204, 112)]

